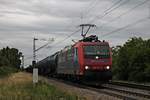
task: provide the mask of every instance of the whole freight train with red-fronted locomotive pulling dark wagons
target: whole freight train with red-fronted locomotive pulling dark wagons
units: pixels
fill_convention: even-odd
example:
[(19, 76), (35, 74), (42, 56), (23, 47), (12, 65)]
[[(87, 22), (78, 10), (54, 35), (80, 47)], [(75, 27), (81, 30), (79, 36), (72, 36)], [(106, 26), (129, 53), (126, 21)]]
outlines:
[(112, 53), (108, 42), (92, 35), (37, 62), (36, 67), (41, 75), (106, 82), (112, 79)]

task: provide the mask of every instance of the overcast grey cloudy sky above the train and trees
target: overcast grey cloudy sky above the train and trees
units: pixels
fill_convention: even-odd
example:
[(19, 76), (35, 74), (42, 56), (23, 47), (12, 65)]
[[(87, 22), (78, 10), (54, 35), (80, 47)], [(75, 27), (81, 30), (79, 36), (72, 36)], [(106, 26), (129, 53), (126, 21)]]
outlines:
[(49, 42), (37, 52), (39, 61), (81, 39), (80, 24), (95, 24), (88, 35), (110, 46), (149, 39), (150, 0), (0, 0), (0, 48), (19, 49), (25, 65), (31, 64), (34, 37), (36, 48)]

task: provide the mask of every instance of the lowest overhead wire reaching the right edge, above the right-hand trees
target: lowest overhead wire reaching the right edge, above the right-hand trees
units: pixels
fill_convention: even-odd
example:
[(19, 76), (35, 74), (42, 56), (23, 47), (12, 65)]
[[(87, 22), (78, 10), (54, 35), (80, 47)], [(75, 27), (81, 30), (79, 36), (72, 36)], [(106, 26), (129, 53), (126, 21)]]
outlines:
[(108, 36), (108, 35), (112, 35), (113, 33), (116, 33), (116, 32), (118, 32), (118, 31), (124, 30), (124, 29), (126, 29), (126, 28), (128, 28), (128, 27), (132, 27), (133, 25), (136, 25), (136, 24), (138, 24), (138, 23), (144, 22), (144, 21), (146, 21), (146, 20), (148, 20), (148, 19), (149, 19), (149, 17), (140, 19), (140, 20), (138, 20), (138, 21), (136, 21), (136, 22), (134, 22), (134, 23), (128, 24), (128, 25), (126, 25), (126, 26), (124, 26), (124, 27), (121, 27), (121, 28), (118, 28), (118, 29), (113, 30), (113, 31), (111, 31), (111, 32), (108, 32), (108, 33), (106, 33), (106, 34), (104, 34), (104, 35), (102, 35), (102, 36), (105, 37), (105, 36)]

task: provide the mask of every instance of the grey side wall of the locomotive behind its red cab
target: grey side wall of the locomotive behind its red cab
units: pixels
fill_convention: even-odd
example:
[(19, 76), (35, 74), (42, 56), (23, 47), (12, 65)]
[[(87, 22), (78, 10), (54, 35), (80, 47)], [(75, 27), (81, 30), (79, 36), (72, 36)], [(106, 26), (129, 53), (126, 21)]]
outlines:
[[(71, 48), (58, 54), (58, 68), (59, 74), (71, 74), (74, 75), (78, 65), (77, 49)], [(74, 61), (75, 60), (75, 61)]]

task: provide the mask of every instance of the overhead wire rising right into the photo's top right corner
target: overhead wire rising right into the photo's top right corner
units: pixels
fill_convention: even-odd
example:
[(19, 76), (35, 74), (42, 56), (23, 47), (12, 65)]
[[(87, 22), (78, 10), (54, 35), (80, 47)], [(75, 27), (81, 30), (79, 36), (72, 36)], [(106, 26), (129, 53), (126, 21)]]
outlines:
[[(122, 16), (124, 16), (124, 15), (126, 15), (126, 14), (132, 12), (134, 9), (138, 8), (138, 7), (141, 6), (141, 5), (144, 5), (145, 3), (149, 2), (149, 1), (150, 1), (150, 0), (145, 0), (144, 2), (142, 2), (142, 3), (140, 3), (140, 4), (137, 4), (136, 6), (132, 7), (131, 9), (127, 10), (126, 12), (120, 14), (120, 15), (117, 16), (116, 18), (110, 20), (109, 22), (107, 22), (107, 23), (105, 23), (105, 24), (102, 24), (100, 27), (102, 28), (104, 25), (110, 24), (110, 23), (112, 23), (112, 22), (118, 20), (118, 19), (121, 18)], [(99, 28), (100, 28), (100, 27), (99, 27)]]

